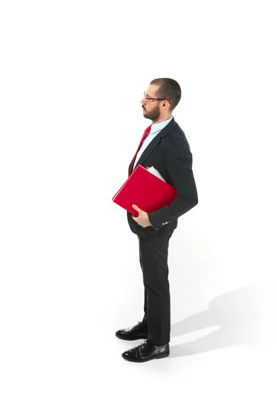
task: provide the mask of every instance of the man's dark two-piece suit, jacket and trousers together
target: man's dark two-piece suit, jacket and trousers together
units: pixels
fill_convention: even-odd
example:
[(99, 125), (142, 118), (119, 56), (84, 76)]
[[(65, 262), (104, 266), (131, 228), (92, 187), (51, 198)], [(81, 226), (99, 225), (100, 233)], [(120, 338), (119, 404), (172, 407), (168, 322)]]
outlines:
[[(148, 326), (148, 342), (161, 346), (170, 342), (169, 239), (177, 228), (178, 217), (198, 203), (193, 156), (185, 133), (174, 117), (145, 148), (136, 166), (139, 164), (157, 169), (178, 194), (170, 205), (148, 213), (152, 226), (143, 228), (127, 212), (129, 227), (139, 239), (139, 259), (145, 286), (143, 323)], [(131, 173), (131, 165), (132, 161), (128, 174)]]

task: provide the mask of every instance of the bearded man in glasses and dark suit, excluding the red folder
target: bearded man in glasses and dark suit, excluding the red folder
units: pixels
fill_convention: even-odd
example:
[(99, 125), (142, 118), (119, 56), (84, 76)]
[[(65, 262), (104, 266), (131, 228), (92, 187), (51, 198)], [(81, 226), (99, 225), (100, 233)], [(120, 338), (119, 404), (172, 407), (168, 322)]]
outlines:
[[(172, 111), (181, 99), (181, 88), (175, 80), (152, 80), (141, 100), (143, 116), (152, 120), (151, 129), (132, 163), (154, 167), (167, 183), (174, 186), (178, 197), (170, 205), (155, 212), (127, 212), (129, 227), (139, 239), (139, 256), (144, 284), (143, 320), (127, 329), (116, 331), (123, 340), (147, 339), (139, 346), (122, 353), (132, 362), (147, 362), (169, 355), (170, 342), (170, 287), (168, 282), (168, 245), (177, 228), (178, 218), (198, 203), (193, 176), (193, 156), (184, 131)], [(150, 127), (149, 127), (150, 128)]]

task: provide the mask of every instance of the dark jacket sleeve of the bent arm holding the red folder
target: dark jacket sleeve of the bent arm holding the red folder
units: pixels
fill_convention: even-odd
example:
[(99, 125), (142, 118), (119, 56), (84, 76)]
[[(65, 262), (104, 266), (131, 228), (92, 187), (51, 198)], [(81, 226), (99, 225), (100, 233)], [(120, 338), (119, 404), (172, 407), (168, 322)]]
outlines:
[(197, 188), (193, 176), (193, 155), (184, 140), (179, 138), (166, 155), (168, 174), (178, 197), (170, 205), (148, 214), (153, 228), (161, 228), (172, 219), (188, 212), (198, 203)]

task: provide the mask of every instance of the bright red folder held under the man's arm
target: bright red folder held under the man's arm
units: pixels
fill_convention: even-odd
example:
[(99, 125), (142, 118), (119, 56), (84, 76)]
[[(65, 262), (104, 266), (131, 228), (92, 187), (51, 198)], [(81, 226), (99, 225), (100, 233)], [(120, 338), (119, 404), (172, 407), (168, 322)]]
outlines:
[(138, 165), (114, 195), (112, 201), (137, 217), (139, 214), (132, 208), (132, 205), (151, 213), (170, 205), (177, 197), (174, 186), (154, 176), (142, 165)]

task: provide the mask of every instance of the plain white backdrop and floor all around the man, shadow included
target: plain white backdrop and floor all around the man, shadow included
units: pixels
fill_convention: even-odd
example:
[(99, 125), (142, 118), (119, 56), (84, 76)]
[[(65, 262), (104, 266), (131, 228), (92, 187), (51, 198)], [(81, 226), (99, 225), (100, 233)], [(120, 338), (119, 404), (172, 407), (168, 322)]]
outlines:
[[(275, 414), (274, 1), (6, 1), (0, 32), (1, 414)], [(170, 239), (170, 357), (139, 364), (111, 199), (156, 77), (181, 85), (199, 203)]]

